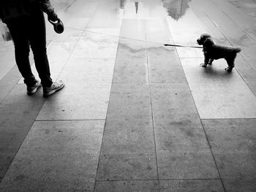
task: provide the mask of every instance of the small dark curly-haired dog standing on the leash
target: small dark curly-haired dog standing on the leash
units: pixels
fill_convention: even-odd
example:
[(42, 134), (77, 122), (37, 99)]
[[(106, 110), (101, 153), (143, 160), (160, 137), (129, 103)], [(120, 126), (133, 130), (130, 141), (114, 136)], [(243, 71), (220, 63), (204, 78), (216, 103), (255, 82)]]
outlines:
[(205, 56), (204, 64), (201, 64), (201, 66), (206, 67), (207, 64), (212, 64), (214, 59), (225, 58), (228, 65), (225, 70), (227, 70), (227, 72), (232, 71), (235, 66), (236, 53), (239, 53), (241, 48), (214, 44), (209, 34), (202, 34), (201, 37), (197, 39), (197, 43), (198, 45), (203, 45), (203, 55)]

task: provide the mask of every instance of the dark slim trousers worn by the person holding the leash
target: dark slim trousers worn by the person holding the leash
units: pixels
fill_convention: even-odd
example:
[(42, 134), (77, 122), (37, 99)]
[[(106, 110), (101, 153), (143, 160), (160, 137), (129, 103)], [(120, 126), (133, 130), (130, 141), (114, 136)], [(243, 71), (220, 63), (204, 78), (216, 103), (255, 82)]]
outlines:
[(31, 15), (6, 21), (15, 45), (15, 60), (26, 85), (34, 85), (35, 78), (29, 64), (29, 50), (34, 54), (34, 64), (43, 87), (50, 87), (50, 67), (46, 53), (45, 18), (39, 7), (34, 6)]

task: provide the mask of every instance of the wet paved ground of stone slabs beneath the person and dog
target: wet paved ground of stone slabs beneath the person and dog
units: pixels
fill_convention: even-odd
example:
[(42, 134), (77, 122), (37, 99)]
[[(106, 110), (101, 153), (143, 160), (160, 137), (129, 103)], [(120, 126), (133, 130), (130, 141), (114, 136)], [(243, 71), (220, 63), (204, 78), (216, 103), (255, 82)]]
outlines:
[[(255, 0), (53, 2), (63, 91), (27, 96), (0, 42), (0, 191), (256, 191)], [(163, 46), (204, 32), (241, 47), (233, 72)]]

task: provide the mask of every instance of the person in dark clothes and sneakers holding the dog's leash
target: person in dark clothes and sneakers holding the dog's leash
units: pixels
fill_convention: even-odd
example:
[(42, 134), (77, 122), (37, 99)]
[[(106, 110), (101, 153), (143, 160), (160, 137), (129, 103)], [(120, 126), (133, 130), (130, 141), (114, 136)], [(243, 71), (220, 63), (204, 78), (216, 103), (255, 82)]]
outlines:
[[(58, 20), (50, 0), (1, 0), (0, 19), (7, 24), (15, 45), (15, 60), (24, 78), (29, 95), (43, 87), (43, 96), (50, 96), (64, 87), (59, 80), (50, 78), (50, 67), (46, 53), (45, 18)], [(29, 46), (34, 53), (34, 63), (39, 74), (36, 80), (29, 64)], [(41, 84), (42, 83), (42, 84)]]

